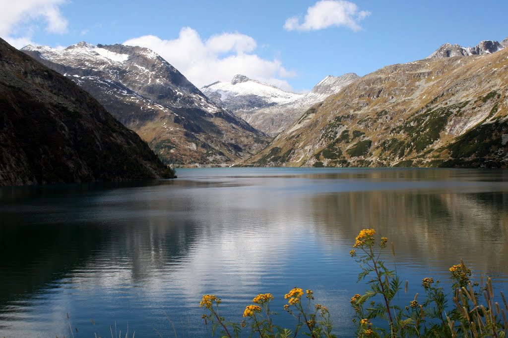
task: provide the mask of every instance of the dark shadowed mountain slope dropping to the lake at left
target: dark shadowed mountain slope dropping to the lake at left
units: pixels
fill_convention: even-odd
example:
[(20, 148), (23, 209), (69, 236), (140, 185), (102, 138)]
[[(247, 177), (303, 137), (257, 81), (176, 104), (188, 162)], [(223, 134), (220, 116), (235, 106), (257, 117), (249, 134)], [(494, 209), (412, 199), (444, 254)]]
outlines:
[(0, 39), (0, 185), (173, 177), (72, 81)]

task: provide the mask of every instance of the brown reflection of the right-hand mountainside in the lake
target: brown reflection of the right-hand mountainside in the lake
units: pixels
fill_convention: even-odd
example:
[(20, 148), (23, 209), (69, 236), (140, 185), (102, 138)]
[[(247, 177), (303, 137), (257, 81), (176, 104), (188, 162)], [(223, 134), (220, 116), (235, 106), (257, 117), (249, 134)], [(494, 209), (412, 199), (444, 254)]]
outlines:
[(394, 242), (398, 260), (446, 272), (463, 258), (478, 271), (508, 273), (507, 193), (360, 191), (316, 195), (311, 203), (321, 231), (353, 239), (374, 228)]

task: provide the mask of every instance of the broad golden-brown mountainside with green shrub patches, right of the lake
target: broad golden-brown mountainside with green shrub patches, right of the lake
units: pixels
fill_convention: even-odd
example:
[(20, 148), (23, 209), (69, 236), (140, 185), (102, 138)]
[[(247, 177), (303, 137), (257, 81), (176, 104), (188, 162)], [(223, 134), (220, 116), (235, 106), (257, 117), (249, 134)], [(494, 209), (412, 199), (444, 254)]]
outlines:
[(508, 49), (374, 71), (244, 165), (508, 167)]

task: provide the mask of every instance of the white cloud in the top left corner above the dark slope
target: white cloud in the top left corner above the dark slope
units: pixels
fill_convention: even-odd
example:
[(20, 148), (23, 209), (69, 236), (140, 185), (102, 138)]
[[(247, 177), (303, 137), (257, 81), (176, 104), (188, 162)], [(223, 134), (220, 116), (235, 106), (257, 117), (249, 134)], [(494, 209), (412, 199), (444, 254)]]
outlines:
[(0, 11), (0, 36), (14, 47), (20, 48), (31, 41), (33, 32), (45, 23), (49, 33), (65, 33), (67, 20), (61, 15), (59, 5), (66, 0), (16, 0)]

